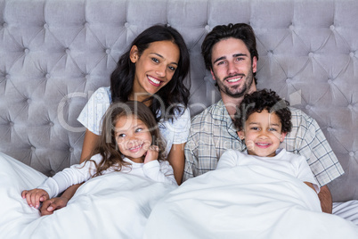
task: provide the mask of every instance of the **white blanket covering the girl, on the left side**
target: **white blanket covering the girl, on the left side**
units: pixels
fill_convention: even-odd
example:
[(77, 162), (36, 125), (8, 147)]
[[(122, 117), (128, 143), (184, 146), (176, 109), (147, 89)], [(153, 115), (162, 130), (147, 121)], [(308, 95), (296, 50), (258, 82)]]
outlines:
[(90, 179), (66, 208), (40, 217), (20, 193), (45, 178), (0, 153), (0, 238), (142, 238), (153, 206), (176, 188), (114, 172)]

